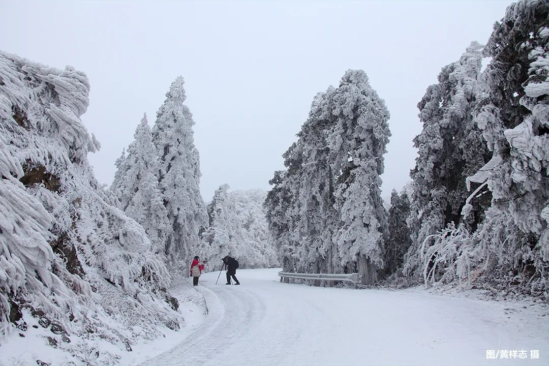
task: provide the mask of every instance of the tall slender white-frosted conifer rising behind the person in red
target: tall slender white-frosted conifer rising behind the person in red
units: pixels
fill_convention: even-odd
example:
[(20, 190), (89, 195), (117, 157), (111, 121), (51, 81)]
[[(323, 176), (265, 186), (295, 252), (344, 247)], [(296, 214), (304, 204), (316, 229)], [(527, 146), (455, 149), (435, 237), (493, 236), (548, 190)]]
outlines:
[(165, 254), (170, 267), (186, 266), (200, 248), (198, 233), (207, 214), (200, 195), (200, 162), (183, 78), (177, 77), (156, 114), (153, 143), (160, 156), (159, 187), (172, 227)]

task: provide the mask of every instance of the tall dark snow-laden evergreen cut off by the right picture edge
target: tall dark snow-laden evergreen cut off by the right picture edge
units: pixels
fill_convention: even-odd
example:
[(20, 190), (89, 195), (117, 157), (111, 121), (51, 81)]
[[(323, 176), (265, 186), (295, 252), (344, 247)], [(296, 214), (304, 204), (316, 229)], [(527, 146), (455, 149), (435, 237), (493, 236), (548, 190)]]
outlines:
[[(490, 230), (482, 228), (484, 235), (480, 240), (489, 241), (489, 250), (502, 252), (509, 258), (507, 263), (497, 264), (503, 273), (514, 273), (514, 281), (529, 286), (532, 292), (545, 291), (546, 297), (548, 17), (547, 1), (519, 1), (509, 5), (505, 17), (494, 25), (484, 49), (485, 55), (492, 57), (483, 74), (485, 93), (475, 110), (475, 121), (494, 157), (483, 168), (484, 174), (473, 180), (486, 181), (493, 196)], [(494, 240), (493, 232), (514, 233), (509, 233), (505, 240)]]

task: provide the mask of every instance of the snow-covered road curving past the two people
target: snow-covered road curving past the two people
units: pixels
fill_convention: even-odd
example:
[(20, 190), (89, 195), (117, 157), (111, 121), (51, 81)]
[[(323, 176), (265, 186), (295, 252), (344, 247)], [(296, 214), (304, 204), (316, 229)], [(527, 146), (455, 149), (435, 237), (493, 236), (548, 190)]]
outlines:
[[(547, 308), (424, 291), (315, 288), (280, 283), (277, 269), (200, 277), (204, 322), (180, 345), (144, 362), (169, 365), (548, 364)], [(523, 306), (526, 306), (524, 308)], [(486, 359), (486, 350), (527, 351)], [(530, 358), (539, 351), (540, 359)]]

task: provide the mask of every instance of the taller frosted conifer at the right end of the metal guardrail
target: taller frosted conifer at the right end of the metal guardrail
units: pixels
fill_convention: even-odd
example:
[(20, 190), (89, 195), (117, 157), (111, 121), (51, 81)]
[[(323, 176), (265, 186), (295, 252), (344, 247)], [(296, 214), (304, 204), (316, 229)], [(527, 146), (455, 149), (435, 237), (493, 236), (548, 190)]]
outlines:
[(356, 266), (362, 283), (372, 284), (382, 266), (387, 228), (380, 175), (389, 142), (389, 111), (362, 70), (348, 70), (330, 93), (335, 120), (328, 147), (335, 174), (335, 208), (341, 226), (335, 235), (342, 263)]

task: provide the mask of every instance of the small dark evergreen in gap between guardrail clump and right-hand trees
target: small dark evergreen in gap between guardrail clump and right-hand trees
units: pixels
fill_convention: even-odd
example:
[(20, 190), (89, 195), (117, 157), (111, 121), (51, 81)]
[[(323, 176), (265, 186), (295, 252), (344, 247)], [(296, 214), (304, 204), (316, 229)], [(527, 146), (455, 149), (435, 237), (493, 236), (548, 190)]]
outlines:
[(388, 216), (389, 238), (383, 253), (383, 272), (390, 275), (402, 268), (404, 255), (412, 244), (406, 219), (410, 215), (410, 199), (406, 192), (400, 195), (393, 189)]

